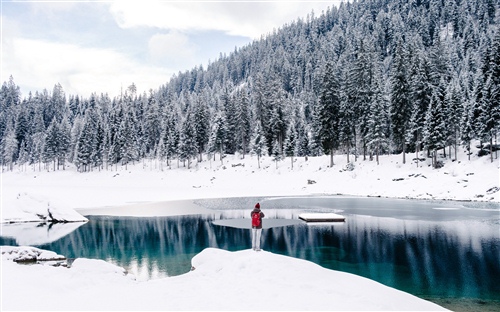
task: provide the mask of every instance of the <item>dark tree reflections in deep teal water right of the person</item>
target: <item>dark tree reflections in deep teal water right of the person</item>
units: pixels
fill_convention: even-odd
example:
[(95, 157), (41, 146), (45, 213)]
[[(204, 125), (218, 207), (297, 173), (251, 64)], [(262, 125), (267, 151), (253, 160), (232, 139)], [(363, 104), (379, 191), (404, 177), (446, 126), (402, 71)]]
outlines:
[(500, 299), (498, 228), (349, 216), (270, 229), (264, 248), (427, 296)]

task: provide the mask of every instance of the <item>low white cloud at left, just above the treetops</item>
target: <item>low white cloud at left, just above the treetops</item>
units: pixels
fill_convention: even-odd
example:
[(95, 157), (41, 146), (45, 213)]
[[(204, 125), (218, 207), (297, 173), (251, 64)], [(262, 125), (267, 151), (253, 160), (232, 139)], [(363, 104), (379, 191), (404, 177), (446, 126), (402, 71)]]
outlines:
[(156, 89), (174, 71), (139, 64), (109, 49), (15, 38), (2, 45), (2, 81), (12, 75), (24, 96), (60, 83), (66, 94), (115, 96), (134, 82), (138, 91)]

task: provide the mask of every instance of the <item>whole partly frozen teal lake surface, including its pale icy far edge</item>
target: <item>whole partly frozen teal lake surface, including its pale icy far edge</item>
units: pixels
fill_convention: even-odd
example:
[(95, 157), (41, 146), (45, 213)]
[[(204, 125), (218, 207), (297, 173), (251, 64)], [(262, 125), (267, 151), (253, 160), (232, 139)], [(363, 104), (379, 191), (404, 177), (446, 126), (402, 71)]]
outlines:
[[(500, 311), (497, 203), (347, 197), (197, 200), (213, 213), (88, 216), (88, 223), (55, 241), (38, 241), (37, 247), (69, 258), (104, 259), (141, 280), (179, 275), (190, 270), (192, 257), (204, 248), (251, 248), (249, 218), (257, 201), (266, 214), (266, 251), (361, 275), (455, 311)], [(305, 223), (298, 219), (303, 212), (340, 213), (346, 222)], [(16, 240), (1, 237), (0, 244), (15, 245)]]

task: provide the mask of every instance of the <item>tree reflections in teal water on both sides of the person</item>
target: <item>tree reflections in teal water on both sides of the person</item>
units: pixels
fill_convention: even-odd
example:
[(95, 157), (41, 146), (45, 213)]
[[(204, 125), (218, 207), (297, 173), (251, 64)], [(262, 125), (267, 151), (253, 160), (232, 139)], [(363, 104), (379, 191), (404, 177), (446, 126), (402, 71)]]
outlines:
[[(286, 213), (286, 212), (283, 212)], [(170, 275), (190, 269), (207, 247), (250, 248), (250, 231), (212, 217), (93, 217), (70, 235), (41, 246), (68, 257), (112, 260)], [(359, 274), (414, 294), (500, 299), (499, 238), (481, 222), (429, 222), (348, 216), (345, 224), (263, 231), (263, 248)], [(494, 295), (496, 293), (496, 295)]]

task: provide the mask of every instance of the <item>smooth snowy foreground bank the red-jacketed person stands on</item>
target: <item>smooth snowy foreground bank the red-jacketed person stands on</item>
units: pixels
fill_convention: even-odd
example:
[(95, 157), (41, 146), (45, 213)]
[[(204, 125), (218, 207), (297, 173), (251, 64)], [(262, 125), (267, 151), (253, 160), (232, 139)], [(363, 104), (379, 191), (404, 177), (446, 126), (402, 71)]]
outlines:
[(19, 265), (15, 249), (29, 248), (2, 247), (2, 310), (444, 310), (363, 277), (265, 251), (208, 248), (189, 273), (138, 282), (101, 260), (76, 259), (71, 268)]

